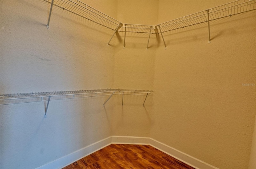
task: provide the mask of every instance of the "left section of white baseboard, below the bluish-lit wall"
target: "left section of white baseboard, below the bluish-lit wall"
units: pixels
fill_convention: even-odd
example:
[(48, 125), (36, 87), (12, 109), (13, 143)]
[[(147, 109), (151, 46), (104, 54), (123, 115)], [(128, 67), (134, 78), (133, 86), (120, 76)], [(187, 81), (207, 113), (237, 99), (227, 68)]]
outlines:
[(70, 165), (70, 164), (74, 163), (75, 161), (82, 159), (82, 158), (86, 157), (87, 155), (90, 155), (91, 153), (94, 153), (110, 144), (112, 144), (112, 136), (102, 139), (100, 141), (97, 141), (95, 143), (92, 143), (92, 144), (90, 144), (80, 150), (77, 150), (73, 153), (70, 153), (64, 157), (61, 157), (61, 158), (56, 159), (50, 163), (47, 163), (40, 167), (37, 167), (36, 169), (61, 169), (61, 168), (66, 167), (67, 165)]

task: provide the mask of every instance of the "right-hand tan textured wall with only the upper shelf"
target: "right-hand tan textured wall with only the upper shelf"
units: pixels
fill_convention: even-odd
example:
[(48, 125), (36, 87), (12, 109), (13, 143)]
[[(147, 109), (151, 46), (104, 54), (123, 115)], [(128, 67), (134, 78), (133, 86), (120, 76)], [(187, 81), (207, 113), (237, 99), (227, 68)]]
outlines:
[[(169, 16), (223, 1), (160, 1)], [(207, 5), (207, 4), (210, 5)], [(194, 5), (193, 5), (194, 4)], [(187, 6), (184, 8), (188, 8)], [(183, 13), (182, 13), (183, 12)], [(160, 18), (166, 10), (159, 10)], [(178, 17), (178, 16), (176, 16)], [(166, 32), (156, 50), (150, 137), (220, 169), (248, 168), (256, 112), (256, 11)]]

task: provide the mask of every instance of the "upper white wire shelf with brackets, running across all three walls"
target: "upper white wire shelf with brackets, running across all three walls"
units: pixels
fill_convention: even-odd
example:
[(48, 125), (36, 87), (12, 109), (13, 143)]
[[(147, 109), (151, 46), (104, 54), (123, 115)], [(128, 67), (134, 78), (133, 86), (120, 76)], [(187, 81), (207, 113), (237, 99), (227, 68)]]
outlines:
[[(58, 6), (64, 10), (72, 12), (78, 16), (86, 18), (96, 24), (104, 26), (114, 31), (112, 37), (108, 41), (108, 45), (110, 41), (114, 37), (114, 34), (118, 32), (124, 32), (124, 48), (125, 48), (125, 40), (126, 33), (143, 33), (148, 34), (148, 43), (150, 40), (150, 34), (161, 34), (162, 39), (164, 41), (164, 32), (185, 28), (188, 26), (208, 23), (209, 30), (209, 40), (208, 43), (211, 42), (210, 38), (210, 21), (217, 20), (220, 18), (224, 18), (227, 16), (232, 16), (235, 14), (240, 14), (243, 12), (248, 12), (256, 9), (256, 0), (236, 0), (234, 2), (230, 2), (227, 4), (223, 4), (220, 6), (216, 6), (214, 8), (209, 8), (207, 10), (203, 10), (201, 12), (197, 12), (194, 14), (190, 14), (187, 16), (183, 16), (174, 20), (170, 20), (157, 25), (140, 25), (140, 24), (123, 24), (122, 22), (111, 18), (110, 16), (80, 2), (79, 0), (44, 0), (46, 2), (51, 3), (50, 14), (48, 18), (47, 28), (49, 28), (50, 24), (50, 16), (52, 12), (52, 6)], [(154, 30), (154, 31), (153, 31)], [(166, 48), (166, 43), (164, 41), (164, 46)], [(148, 44), (147, 48), (148, 49)]]

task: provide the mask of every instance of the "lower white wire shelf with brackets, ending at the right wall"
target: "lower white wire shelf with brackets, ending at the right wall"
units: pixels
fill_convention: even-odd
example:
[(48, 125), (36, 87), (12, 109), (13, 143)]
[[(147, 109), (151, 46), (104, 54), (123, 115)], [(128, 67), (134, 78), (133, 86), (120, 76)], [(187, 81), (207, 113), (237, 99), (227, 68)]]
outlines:
[(94, 90), (76, 90), (76, 91), (53, 91), (40, 93), (13, 93), (0, 95), (0, 105), (10, 105), (18, 103), (33, 103), (40, 101), (47, 101), (44, 117), (48, 110), (50, 101), (62, 99), (75, 99), (83, 97), (106, 96), (109, 97), (103, 103), (103, 106), (112, 97), (112, 95), (122, 95), (122, 105), (124, 103), (124, 95), (143, 95), (146, 96), (143, 102), (145, 104), (146, 98), (152, 93), (151, 90), (128, 90), (128, 89), (94, 89)]

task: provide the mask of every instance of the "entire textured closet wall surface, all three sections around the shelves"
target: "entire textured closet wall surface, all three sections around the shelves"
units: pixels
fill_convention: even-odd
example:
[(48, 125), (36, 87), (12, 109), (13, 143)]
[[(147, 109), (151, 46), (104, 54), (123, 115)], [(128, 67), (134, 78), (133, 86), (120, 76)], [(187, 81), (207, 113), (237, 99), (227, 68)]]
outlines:
[[(128, 24), (165, 22), (230, 1), (85, 1)], [(35, 168), (110, 135), (152, 137), (220, 169), (248, 168), (256, 112), (256, 11), (152, 35), (118, 33), (50, 4), (0, 1), (0, 93), (154, 90), (0, 107), (0, 168)], [(255, 136), (254, 136), (255, 141)], [(28, 163), (29, 161), (29, 163)], [(250, 163), (250, 166), (252, 163)]]

